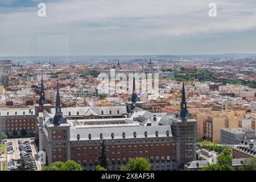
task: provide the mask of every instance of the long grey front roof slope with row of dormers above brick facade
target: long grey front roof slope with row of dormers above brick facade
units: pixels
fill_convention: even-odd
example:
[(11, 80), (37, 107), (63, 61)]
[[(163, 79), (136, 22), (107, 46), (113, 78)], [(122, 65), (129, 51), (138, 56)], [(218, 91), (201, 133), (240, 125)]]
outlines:
[(172, 137), (171, 126), (127, 126), (127, 127), (101, 127), (101, 128), (71, 128), (71, 140), (77, 140), (77, 135), (80, 135), (80, 140), (89, 140), (89, 134), (92, 135), (92, 140), (100, 140), (100, 134), (102, 133), (104, 139), (111, 139), (111, 134), (114, 134), (114, 138), (122, 139), (123, 132), (126, 139), (134, 139), (134, 132), (136, 132), (136, 138), (144, 138), (145, 131), (147, 131), (147, 138), (156, 137), (156, 131), (158, 131), (158, 137), (167, 137), (167, 131), (169, 131), (169, 137)]

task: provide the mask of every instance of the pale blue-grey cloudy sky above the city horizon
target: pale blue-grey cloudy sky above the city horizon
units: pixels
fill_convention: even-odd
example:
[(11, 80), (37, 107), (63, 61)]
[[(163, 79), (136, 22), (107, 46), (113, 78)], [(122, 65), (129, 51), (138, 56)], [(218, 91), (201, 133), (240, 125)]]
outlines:
[(0, 29), (0, 56), (256, 53), (255, 0), (0, 0)]

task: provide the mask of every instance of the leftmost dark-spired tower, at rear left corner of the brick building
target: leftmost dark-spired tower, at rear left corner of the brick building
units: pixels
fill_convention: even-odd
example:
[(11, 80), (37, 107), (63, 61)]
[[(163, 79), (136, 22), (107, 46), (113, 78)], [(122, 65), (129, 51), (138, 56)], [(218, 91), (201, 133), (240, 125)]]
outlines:
[(43, 82), (43, 73), (41, 75), (41, 86), (40, 86), (40, 97), (38, 102), (35, 104), (35, 115), (38, 116), (44, 109), (50, 113), (52, 105), (46, 100), (44, 95), (44, 82)]

